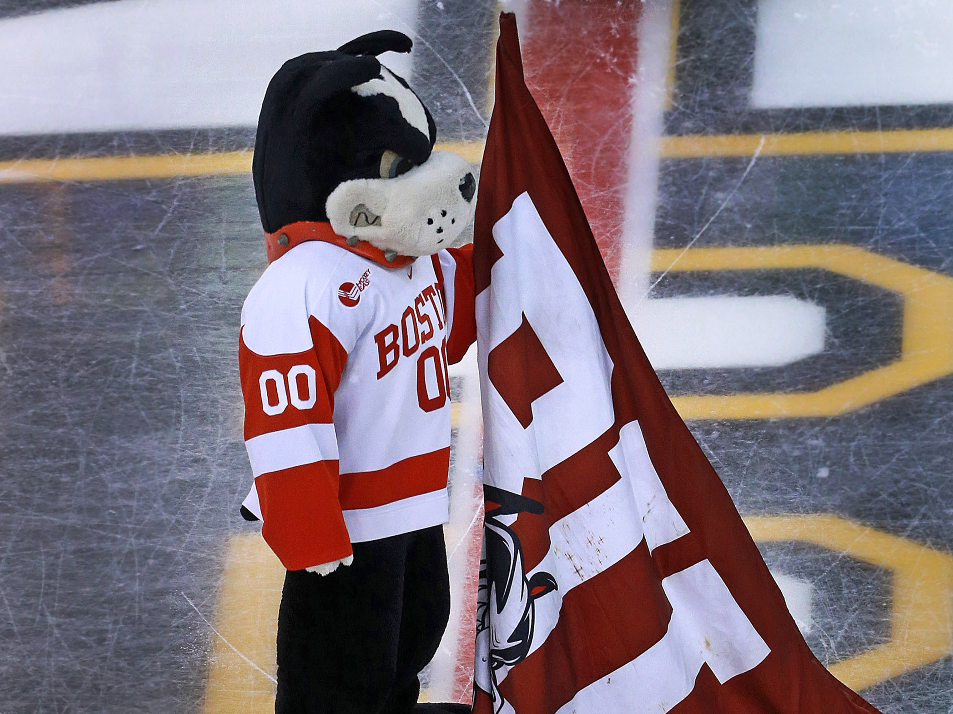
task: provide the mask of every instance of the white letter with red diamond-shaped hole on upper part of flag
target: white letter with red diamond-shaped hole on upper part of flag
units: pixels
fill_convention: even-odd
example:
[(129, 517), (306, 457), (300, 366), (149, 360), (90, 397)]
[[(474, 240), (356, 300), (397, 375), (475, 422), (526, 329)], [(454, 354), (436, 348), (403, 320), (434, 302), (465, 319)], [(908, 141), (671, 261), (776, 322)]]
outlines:
[[(539, 478), (613, 425), (613, 364), (589, 299), (528, 193), (517, 196), (493, 236), (503, 255), (493, 265), (490, 287), (476, 296), (484, 478), (520, 493), (523, 479)], [(540, 266), (546, 267), (544, 278)], [(489, 353), (524, 319), (562, 379), (533, 401), (526, 428), (487, 373)]]

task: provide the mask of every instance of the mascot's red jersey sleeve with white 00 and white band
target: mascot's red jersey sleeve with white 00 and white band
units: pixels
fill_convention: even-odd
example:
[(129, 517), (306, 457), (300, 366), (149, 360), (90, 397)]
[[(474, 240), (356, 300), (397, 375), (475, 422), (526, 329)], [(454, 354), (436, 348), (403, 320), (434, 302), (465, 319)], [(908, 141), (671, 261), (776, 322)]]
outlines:
[[(308, 329), (313, 347), (289, 353), (279, 351), (280, 345), (262, 344), (260, 336), (276, 330), (255, 330), (247, 322), (238, 349), (245, 446), (261, 510), (261, 534), (289, 570), (336, 567), (352, 557), (337, 496), (333, 420), (335, 389), (347, 352), (314, 317)], [(246, 345), (250, 332), (249, 342), (264, 355)]]

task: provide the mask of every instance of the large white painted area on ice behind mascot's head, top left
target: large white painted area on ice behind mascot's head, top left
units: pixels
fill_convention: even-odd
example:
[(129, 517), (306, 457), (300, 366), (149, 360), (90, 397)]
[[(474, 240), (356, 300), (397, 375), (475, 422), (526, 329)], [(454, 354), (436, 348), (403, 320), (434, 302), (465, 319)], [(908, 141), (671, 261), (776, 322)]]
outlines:
[[(121, 0), (0, 21), (0, 134), (254, 126), (274, 71), (416, 0)], [(407, 55), (384, 61), (410, 73)]]

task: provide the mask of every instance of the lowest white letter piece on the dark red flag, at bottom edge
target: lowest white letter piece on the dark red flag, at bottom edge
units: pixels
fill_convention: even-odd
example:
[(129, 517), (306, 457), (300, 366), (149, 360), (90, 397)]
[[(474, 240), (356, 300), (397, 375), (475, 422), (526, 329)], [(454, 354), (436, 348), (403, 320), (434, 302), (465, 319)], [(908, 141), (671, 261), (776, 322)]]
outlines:
[(670, 575), (661, 585), (672, 604), (662, 639), (581, 689), (558, 714), (661, 714), (691, 693), (702, 664), (724, 684), (767, 657), (770, 649), (707, 560)]

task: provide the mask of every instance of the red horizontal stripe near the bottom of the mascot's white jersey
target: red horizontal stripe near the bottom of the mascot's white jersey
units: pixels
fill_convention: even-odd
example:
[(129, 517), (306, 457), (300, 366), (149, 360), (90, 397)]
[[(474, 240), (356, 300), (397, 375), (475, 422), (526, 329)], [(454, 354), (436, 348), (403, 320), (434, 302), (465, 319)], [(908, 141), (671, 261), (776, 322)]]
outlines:
[(373, 508), (393, 504), (447, 486), (450, 447), (412, 456), (379, 471), (355, 471), (340, 476), (341, 508)]

